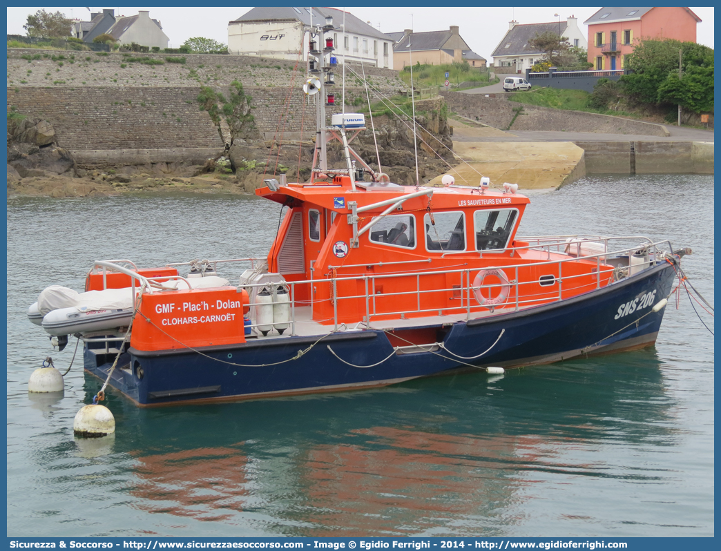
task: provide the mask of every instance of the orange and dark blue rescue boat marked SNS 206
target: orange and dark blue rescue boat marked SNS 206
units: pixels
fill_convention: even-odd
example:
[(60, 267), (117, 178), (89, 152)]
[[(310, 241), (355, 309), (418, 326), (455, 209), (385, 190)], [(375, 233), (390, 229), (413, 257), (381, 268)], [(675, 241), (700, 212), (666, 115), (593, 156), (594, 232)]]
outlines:
[[(309, 182), (281, 175), (256, 191), (287, 209), (267, 257), (97, 261), (85, 291), (128, 289), (129, 319), (123, 310), (111, 327), (53, 325), (56, 338), (84, 342), (89, 374), (152, 406), (380, 387), (653, 345), (689, 250), (637, 236), (519, 236), (529, 200), (515, 184), (390, 182), (350, 148), (363, 114), (327, 125), (332, 46), (312, 48), (323, 74), (304, 86), (318, 110), (313, 169)], [(328, 137), (341, 142), (345, 167), (327, 166)]]

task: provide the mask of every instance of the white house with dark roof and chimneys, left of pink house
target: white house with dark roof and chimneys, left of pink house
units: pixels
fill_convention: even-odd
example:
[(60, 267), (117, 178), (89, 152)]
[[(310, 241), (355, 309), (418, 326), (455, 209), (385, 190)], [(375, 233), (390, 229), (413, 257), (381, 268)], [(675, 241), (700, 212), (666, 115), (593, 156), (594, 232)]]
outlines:
[(508, 31), (492, 53), (493, 65), (500, 69), (496, 72), (525, 73), (528, 67), (534, 66), (544, 56), (544, 52), (529, 50), (528, 41), (544, 32), (553, 32), (566, 38), (572, 46), (588, 48), (588, 40), (578, 27), (578, 19), (573, 16), (565, 21), (559, 19), (551, 23), (519, 25), (518, 21), (511, 21), (508, 23)]

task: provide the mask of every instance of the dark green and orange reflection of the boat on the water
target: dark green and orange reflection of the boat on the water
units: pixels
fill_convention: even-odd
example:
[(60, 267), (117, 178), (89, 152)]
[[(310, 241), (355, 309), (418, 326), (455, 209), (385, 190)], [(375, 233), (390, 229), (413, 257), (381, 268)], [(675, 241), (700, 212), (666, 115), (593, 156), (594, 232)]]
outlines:
[[(111, 395), (115, 452), (136, 459), (127, 491), (137, 508), (188, 523), (222, 521), (244, 535), (502, 535), (527, 525), (554, 485), (572, 503), (568, 493), (583, 500), (600, 478), (669, 476), (629, 473), (625, 457), (675, 437), (659, 366), (652, 348), (495, 382), (464, 374), (169, 410)], [(97, 390), (97, 379), (86, 383)], [(614, 453), (597, 453), (606, 446)]]

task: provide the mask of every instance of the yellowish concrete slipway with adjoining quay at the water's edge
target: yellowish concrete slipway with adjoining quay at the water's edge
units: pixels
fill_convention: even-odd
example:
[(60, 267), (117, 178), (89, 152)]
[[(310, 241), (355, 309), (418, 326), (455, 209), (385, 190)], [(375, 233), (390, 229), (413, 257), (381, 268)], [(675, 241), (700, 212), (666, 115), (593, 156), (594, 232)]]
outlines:
[[(587, 174), (713, 174), (714, 133), (665, 125), (667, 136), (500, 131), (472, 120), (453, 120), (454, 151), (461, 163), (450, 173), (461, 185), (559, 188)], [(430, 183), (440, 183), (437, 177)]]

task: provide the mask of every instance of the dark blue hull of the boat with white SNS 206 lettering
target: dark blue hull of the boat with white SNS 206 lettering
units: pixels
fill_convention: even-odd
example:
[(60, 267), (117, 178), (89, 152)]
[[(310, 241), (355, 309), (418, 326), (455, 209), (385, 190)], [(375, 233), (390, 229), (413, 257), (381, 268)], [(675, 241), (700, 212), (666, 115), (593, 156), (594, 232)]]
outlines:
[[(249, 340), (200, 351), (128, 348), (110, 385), (143, 406), (240, 400), (377, 387), (459, 369), (512, 368), (640, 348), (655, 342), (665, 308), (653, 312), (653, 306), (671, 293), (674, 276), (672, 265), (663, 263), (573, 299), (434, 326), (441, 346), (430, 351), (394, 353), (382, 330)], [(105, 345), (91, 346), (101, 345), (87, 345), (85, 369), (105, 380), (115, 354), (105, 353)]]

